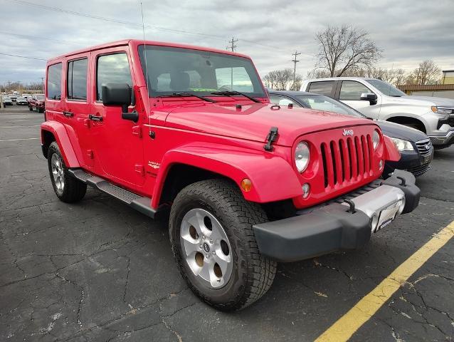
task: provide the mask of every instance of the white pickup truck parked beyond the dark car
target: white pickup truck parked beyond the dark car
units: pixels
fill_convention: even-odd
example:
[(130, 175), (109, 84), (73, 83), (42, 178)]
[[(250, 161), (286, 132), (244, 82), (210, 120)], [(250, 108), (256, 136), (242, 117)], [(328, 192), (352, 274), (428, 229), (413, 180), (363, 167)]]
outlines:
[(359, 77), (308, 80), (300, 90), (327, 95), (369, 118), (421, 130), (435, 148), (454, 143), (454, 100), (449, 98), (409, 96), (384, 81)]

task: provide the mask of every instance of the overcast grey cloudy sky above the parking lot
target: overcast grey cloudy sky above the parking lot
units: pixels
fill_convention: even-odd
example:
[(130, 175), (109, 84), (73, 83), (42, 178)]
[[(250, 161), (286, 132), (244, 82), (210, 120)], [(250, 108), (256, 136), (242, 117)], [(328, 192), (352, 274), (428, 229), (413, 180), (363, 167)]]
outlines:
[[(234, 36), (236, 51), (251, 56), (261, 76), (291, 68), (297, 50), (302, 52), (297, 72), (305, 77), (315, 63), (314, 35), (328, 24), (368, 31), (384, 50), (379, 66), (411, 71), (433, 59), (442, 69), (454, 69), (453, 0), (142, 2), (148, 40), (224, 49)], [(141, 22), (139, 1), (0, 0), (0, 83), (41, 81), (46, 65), (1, 53), (46, 60), (98, 43), (142, 38), (136, 25)]]

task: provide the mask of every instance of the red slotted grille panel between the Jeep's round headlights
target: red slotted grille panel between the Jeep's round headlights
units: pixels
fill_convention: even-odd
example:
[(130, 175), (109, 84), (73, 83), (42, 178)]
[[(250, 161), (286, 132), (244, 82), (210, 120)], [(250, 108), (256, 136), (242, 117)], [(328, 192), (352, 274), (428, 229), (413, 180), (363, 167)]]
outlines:
[(325, 188), (370, 176), (374, 152), (371, 135), (322, 142), (320, 150)]

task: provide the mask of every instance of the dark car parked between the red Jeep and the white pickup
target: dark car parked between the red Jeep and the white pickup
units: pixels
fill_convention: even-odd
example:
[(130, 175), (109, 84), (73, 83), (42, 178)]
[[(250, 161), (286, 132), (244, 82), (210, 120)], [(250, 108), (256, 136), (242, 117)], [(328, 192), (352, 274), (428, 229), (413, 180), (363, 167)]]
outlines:
[[(325, 95), (307, 93), (303, 91), (277, 91), (269, 90), (270, 100), (278, 105), (289, 105), (295, 107), (312, 108), (344, 115), (351, 115), (358, 118), (366, 118), (354, 108), (341, 103)], [(386, 162), (384, 177), (388, 177), (395, 169), (407, 170), (413, 175), (421, 176), (431, 167), (433, 159), (433, 147), (431, 140), (420, 130), (390, 123), (383, 120), (375, 120), (380, 126), (384, 135), (388, 135), (401, 152), (401, 160), (398, 162)]]

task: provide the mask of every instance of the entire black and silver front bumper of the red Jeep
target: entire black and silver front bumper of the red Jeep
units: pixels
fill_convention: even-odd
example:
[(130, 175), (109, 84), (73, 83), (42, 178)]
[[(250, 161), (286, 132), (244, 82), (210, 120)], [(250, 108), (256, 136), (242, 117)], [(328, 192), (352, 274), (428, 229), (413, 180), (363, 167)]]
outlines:
[[(361, 195), (344, 195), (310, 212), (299, 212), (295, 217), (255, 224), (260, 253), (276, 261), (297, 261), (357, 249), (369, 242), (371, 232), (418, 207), (420, 190), (410, 172), (396, 170), (387, 180), (369, 185), (369, 189), (360, 190)], [(354, 210), (344, 199), (354, 203)]]

